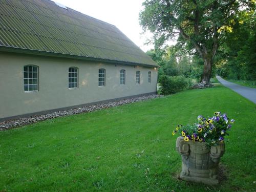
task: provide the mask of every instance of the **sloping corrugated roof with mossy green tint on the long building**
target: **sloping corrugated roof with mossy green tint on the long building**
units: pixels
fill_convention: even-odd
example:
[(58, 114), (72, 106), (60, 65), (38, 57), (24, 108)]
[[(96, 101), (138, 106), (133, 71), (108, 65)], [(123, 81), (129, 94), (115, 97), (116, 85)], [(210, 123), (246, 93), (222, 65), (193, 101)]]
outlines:
[(157, 64), (115, 26), (50, 0), (0, 0), (0, 50)]

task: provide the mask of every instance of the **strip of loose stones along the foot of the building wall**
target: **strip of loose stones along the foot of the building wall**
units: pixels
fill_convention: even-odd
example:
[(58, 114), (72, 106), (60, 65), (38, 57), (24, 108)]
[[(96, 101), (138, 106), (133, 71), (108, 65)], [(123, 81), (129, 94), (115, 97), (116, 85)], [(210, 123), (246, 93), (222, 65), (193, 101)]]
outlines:
[(62, 116), (80, 114), (80, 113), (87, 113), (87, 112), (111, 108), (113, 106), (119, 106), (119, 105), (123, 105), (123, 104), (127, 104), (127, 103), (134, 103), (134, 102), (139, 102), (139, 101), (143, 101), (143, 100), (147, 100), (147, 99), (153, 99), (153, 98), (157, 98), (157, 97), (161, 97), (161, 95), (148, 95), (148, 96), (136, 97), (136, 98), (131, 98), (131, 99), (123, 99), (123, 100), (113, 101), (113, 102), (93, 104), (93, 105), (89, 105), (89, 106), (84, 106), (82, 108), (70, 109), (70, 110), (66, 110), (66, 111), (57, 111), (57, 112), (53, 112), (53, 113), (49, 113), (49, 114), (45, 114), (45, 115), (34, 115), (31, 117), (26, 117), (26, 118), (6, 120), (3, 122), (0, 122), (0, 131), (10, 129), (12, 127), (23, 126), (23, 125), (36, 123), (39, 121), (44, 121), (47, 119), (53, 119), (56, 117), (62, 117)]

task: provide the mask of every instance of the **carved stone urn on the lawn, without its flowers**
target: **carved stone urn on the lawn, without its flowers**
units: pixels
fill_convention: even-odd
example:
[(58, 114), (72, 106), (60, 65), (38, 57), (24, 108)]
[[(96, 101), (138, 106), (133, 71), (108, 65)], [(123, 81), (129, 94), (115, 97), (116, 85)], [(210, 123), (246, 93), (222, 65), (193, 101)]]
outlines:
[(204, 184), (218, 184), (220, 158), (225, 152), (224, 142), (207, 147), (204, 142), (176, 140), (176, 150), (182, 158), (180, 179)]

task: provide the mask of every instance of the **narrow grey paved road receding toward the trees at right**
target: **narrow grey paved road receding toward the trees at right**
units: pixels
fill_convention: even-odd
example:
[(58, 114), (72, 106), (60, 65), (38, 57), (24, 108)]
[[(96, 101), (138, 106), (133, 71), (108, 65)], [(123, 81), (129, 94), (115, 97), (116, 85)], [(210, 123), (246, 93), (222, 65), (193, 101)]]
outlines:
[(248, 88), (248, 87), (240, 86), (239, 84), (226, 81), (218, 75), (216, 75), (216, 78), (221, 82), (221, 84), (223, 84), (223, 86), (239, 93), (243, 97), (256, 103), (256, 89), (255, 88)]

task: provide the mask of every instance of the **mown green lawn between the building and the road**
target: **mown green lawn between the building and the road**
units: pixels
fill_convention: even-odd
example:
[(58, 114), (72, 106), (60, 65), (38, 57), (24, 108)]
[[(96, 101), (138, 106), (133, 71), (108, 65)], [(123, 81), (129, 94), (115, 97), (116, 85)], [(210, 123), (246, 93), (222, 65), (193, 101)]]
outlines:
[[(218, 186), (179, 181), (177, 124), (236, 119)], [(0, 132), (0, 191), (254, 191), (256, 105), (222, 86)]]

